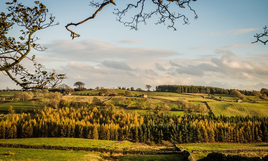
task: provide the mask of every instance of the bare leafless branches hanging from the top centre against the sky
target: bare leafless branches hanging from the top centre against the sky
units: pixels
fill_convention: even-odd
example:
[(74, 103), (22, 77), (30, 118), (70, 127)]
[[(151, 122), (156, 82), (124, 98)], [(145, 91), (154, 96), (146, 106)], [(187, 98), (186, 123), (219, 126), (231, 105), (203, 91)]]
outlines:
[[(65, 27), (68, 31), (71, 32), (71, 37), (74, 39), (75, 37), (79, 37), (80, 35), (78, 33), (75, 33), (71, 29), (69, 29), (69, 26), (78, 26), (84, 22), (87, 22), (90, 19), (93, 19), (96, 17), (96, 14), (101, 11), (104, 6), (108, 4), (113, 4), (116, 6), (116, 3), (114, 2), (116, 0), (104, 0), (103, 2), (90, 2), (89, 6), (97, 8), (94, 14), (92, 16), (86, 18), (85, 20), (78, 22), (78, 23), (69, 23)], [(114, 9), (113, 14), (117, 16), (116, 20), (123, 23), (124, 26), (130, 27), (130, 29), (138, 29), (138, 24), (144, 23), (146, 25), (146, 20), (151, 18), (153, 15), (159, 16), (159, 19), (155, 24), (166, 24), (169, 23), (168, 28), (172, 28), (174, 30), (177, 30), (174, 26), (175, 21), (179, 18), (183, 20), (183, 24), (189, 24), (189, 19), (184, 15), (178, 13), (178, 9), (176, 7), (185, 9), (185, 7), (189, 8), (189, 10), (193, 11), (195, 15), (195, 19), (198, 18), (195, 10), (193, 10), (190, 6), (191, 2), (194, 2), (196, 0), (152, 0), (151, 2), (145, 3), (145, 0), (135, 0), (131, 3), (126, 4), (126, 7), (123, 10)], [(123, 3), (124, 1), (118, 1), (118, 3)], [(174, 7), (175, 6), (175, 7)], [(148, 9), (149, 8), (149, 9)], [(133, 13), (130, 10), (137, 10), (134, 15), (130, 15), (129, 20), (125, 20), (124, 17), (128, 17), (128, 14)], [(174, 9), (174, 10), (172, 10)]]

